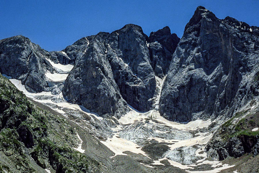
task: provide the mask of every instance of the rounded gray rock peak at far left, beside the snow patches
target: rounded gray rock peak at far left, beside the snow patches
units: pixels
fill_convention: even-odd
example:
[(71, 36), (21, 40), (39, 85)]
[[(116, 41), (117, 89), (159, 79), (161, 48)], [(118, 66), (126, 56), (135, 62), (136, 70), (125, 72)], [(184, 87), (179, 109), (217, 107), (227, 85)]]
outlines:
[(44, 69), (54, 70), (45, 59), (47, 55), (39, 45), (21, 35), (0, 40), (0, 72), (21, 80), (30, 92), (46, 91)]

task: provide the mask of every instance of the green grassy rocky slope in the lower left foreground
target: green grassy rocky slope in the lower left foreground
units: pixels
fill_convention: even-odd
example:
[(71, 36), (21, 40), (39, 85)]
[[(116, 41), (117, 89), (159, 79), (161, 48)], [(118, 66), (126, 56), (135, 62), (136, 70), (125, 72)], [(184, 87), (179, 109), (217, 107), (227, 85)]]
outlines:
[(95, 172), (98, 162), (71, 148), (79, 143), (76, 131), (0, 74), (0, 172)]

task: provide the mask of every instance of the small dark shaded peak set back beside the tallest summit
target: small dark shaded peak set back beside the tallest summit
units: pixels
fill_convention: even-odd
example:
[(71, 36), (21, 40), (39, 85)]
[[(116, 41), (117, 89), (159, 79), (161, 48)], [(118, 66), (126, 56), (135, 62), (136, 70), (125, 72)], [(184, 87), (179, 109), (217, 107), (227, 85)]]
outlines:
[(172, 55), (180, 38), (171, 34), (169, 27), (164, 27), (149, 36), (149, 52), (152, 68), (157, 76), (163, 78), (170, 66)]

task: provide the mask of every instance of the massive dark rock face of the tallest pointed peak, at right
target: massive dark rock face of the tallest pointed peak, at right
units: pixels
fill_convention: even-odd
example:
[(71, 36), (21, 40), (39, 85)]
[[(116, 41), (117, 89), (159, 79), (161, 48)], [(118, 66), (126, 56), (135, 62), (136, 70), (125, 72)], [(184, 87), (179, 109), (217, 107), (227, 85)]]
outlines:
[(176, 48), (159, 112), (173, 121), (232, 116), (253, 97), (258, 27), (197, 7)]

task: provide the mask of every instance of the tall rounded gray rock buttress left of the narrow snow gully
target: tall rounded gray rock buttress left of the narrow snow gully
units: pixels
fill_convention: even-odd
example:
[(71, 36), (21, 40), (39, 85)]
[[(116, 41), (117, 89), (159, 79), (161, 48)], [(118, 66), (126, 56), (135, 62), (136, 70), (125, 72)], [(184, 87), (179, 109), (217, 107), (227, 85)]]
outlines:
[(146, 40), (141, 27), (129, 24), (111, 33), (106, 45), (107, 57), (123, 99), (142, 112), (151, 109), (150, 99), (156, 95), (155, 74)]

